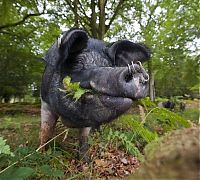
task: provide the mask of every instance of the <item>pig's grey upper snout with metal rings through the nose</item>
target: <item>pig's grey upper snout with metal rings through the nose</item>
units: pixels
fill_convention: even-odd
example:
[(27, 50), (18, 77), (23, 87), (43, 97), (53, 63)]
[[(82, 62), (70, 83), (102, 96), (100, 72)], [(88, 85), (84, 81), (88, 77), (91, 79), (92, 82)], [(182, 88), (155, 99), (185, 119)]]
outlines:
[(149, 75), (139, 62), (128, 67), (102, 68), (93, 74), (85, 84), (98, 93), (131, 99), (147, 95)]

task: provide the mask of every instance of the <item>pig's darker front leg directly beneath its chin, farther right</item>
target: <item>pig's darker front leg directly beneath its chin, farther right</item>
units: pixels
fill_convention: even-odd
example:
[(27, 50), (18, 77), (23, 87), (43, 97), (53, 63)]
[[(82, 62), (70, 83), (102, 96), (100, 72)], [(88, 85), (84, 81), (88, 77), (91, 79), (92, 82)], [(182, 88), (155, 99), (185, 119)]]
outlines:
[(81, 128), (79, 130), (79, 159), (83, 159), (85, 162), (90, 161), (89, 155), (88, 155), (88, 135), (90, 133), (91, 127), (85, 127)]

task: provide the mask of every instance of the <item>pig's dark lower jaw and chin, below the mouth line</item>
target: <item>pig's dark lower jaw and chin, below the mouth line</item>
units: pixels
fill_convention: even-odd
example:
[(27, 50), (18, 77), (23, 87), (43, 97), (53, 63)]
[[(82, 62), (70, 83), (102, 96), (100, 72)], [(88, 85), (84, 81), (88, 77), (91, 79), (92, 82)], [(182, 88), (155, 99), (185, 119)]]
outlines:
[[(132, 99), (87, 93), (78, 101), (60, 99), (59, 114), (69, 127), (95, 127), (108, 123), (124, 114), (132, 105)], [(62, 111), (60, 111), (62, 110)]]

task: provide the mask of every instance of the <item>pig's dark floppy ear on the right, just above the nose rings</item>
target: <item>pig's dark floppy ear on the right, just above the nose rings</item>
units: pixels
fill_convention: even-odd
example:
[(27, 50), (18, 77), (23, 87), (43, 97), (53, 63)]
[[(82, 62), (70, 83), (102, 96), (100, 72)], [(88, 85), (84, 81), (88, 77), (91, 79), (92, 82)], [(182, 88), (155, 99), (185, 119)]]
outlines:
[(150, 59), (150, 50), (138, 43), (128, 40), (118, 41), (108, 48), (108, 55), (115, 66), (127, 66), (131, 61), (133, 63), (145, 62)]

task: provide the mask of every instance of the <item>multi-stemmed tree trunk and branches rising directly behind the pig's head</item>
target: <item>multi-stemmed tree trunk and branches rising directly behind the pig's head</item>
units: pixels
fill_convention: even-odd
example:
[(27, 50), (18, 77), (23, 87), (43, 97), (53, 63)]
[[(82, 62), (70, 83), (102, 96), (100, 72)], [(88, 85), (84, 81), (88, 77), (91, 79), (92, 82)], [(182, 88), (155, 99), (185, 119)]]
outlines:
[(103, 40), (111, 31), (118, 17), (127, 14), (133, 6), (132, 1), (64, 1), (68, 9), (73, 13), (75, 26), (83, 27), (90, 36)]

